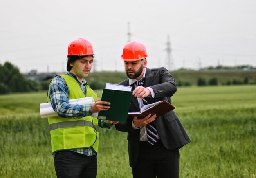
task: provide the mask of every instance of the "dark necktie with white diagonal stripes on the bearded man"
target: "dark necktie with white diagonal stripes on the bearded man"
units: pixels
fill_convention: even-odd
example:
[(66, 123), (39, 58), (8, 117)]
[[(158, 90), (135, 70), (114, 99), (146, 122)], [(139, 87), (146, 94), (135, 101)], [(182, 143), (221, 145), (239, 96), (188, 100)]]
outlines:
[[(142, 78), (140, 81), (137, 81), (138, 86), (144, 86), (145, 78)], [(148, 101), (146, 99), (142, 99), (143, 106), (148, 104)], [(147, 127), (147, 137), (148, 142), (151, 145), (155, 145), (157, 142), (157, 129), (154, 122), (150, 122), (146, 125)]]

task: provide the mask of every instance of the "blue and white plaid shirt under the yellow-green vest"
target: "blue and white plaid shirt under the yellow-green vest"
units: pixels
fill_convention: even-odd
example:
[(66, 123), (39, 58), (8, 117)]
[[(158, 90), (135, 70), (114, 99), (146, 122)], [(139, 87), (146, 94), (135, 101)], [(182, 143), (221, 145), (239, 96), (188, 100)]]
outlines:
[[(73, 73), (67, 73), (78, 81), (77, 77)], [(83, 92), (86, 93), (85, 85), (88, 85), (83, 79), (82, 83), (78, 81), (79, 86), (82, 88)], [(69, 91), (66, 81), (61, 76), (56, 76), (52, 79), (52, 84), (49, 90), (49, 99), (51, 101), (52, 108), (58, 113), (60, 117), (63, 118), (81, 118), (85, 116), (92, 115), (91, 108), (92, 104), (88, 105), (71, 105), (68, 104), (69, 100)], [(101, 128), (110, 128), (113, 124), (110, 124), (104, 120), (99, 120), (99, 127)], [(92, 147), (89, 148), (78, 148), (70, 149), (71, 151), (84, 154), (86, 156), (96, 155)], [(55, 155), (55, 154), (54, 154)]]

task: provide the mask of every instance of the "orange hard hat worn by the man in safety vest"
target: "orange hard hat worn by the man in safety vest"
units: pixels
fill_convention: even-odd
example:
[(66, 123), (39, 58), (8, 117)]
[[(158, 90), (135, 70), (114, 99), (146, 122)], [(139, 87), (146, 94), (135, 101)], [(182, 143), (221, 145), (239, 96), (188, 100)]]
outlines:
[(92, 43), (84, 38), (76, 38), (67, 48), (67, 57), (69, 55), (94, 55)]

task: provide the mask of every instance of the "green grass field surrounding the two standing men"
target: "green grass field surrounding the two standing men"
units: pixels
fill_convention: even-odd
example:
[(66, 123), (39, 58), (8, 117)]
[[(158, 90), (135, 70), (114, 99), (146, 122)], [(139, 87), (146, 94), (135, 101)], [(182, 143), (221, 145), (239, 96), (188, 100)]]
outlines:
[[(171, 97), (191, 143), (181, 178), (255, 178), (256, 85), (178, 88)], [(101, 91), (97, 93), (100, 95)], [(0, 177), (55, 178), (46, 92), (0, 95)], [(100, 129), (97, 178), (132, 178), (126, 133)]]

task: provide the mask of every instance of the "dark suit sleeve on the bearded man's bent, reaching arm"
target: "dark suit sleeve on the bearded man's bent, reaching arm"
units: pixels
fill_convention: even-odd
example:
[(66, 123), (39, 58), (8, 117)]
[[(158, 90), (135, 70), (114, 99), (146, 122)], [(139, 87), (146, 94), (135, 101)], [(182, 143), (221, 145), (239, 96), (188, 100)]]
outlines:
[(154, 79), (150, 86), (155, 92), (155, 98), (157, 97), (171, 97), (177, 91), (177, 85), (175, 80), (164, 67), (155, 71)]

